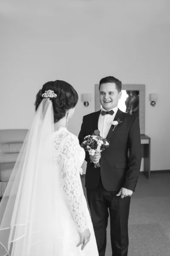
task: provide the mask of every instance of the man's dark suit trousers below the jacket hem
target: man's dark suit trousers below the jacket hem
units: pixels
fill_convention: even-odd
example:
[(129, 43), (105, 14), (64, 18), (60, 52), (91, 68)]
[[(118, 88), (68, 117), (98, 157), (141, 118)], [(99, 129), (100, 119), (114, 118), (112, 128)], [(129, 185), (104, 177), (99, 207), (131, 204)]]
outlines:
[(109, 192), (105, 190), (101, 179), (97, 189), (86, 190), (99, 256), (105, 256), (109, 213), (112, 256), (127, 256), (130, 197), (122, 199), (120, 196), (116, 196), (119, 191)]

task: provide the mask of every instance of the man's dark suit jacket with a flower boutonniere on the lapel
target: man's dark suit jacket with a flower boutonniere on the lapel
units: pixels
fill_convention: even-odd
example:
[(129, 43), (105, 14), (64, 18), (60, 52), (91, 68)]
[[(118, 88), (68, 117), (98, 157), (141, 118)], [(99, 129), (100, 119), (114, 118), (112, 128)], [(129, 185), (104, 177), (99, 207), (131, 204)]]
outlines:
[[(100, 112), (83, 117), (79, 133), (80, 145), (85, 136), (98, 129)], [(110, 146), (101, 153), (100, 167), (94, 168), (94, 164), (90, 162), (89, 153), (86, 152), (85, 187), (87, 189), (96, 189), (101, 176), (102, 184), (108, 191), (119, 191), (121, 187), (135, 191), (142, 159), (139, 118), (119, 109), (114, 120), (118, 118), (122, 122), (115, 127), (114, 131), (114, 126), (111, 125), (106, 137), (110, 141)]]

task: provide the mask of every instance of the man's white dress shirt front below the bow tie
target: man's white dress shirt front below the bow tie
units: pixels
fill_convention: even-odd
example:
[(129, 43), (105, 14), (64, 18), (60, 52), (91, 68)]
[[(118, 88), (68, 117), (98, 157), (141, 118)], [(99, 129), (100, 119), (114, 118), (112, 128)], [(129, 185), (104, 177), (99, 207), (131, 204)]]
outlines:
[[(103, 111), (105, 111), (104, 108), (102, 108)], [(101, 110), (101, 111), (102, 111)], [(100, 131), (100, 136), (102, 136), (103, 138), (106, 138), (108, 135), (108, 132), (111, 128), (111, 122), (114, 120), (116, 113), (118, 111), (118, 107), (115, 107), (112, 109), (114, 111), (113, 115), (105, 115), (102, 116), (101, 113), (99, 115), (99, 121), (98, 121), (98, 129)]]

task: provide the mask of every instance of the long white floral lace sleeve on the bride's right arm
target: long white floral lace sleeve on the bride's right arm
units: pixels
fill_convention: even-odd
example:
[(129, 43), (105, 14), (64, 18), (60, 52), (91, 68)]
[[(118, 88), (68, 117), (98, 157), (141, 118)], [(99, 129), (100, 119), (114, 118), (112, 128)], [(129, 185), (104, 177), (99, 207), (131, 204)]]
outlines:
[(86, 228), (85, 211), (83, 210), (82, 186), (79, 182), (79, 141), (76, 136), (71, 133), (60, 134), (57, 144), (61, 145), (59, 150), (59, 160), (61, 164), (62, 178), (64, 182), (64, 192), (70, 207), (72, 216), (77, 223), (79, 232), (83, 232)]

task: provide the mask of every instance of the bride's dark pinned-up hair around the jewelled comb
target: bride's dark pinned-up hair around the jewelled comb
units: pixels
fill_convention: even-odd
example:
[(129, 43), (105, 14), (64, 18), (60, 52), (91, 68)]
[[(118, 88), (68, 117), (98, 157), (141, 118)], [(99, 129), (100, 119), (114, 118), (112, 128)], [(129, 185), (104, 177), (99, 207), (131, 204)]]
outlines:
[(38, 106), (44, 99), (42, 94), (48, 90), (52, 90), (57, 94), (57, 97), (50, 99), (53, 103), (54, 122), (58, 122), (65, 116), (66, 111), (77, 105), (79, 96), (71, 84), (61, 80), (49, 81), (42, 86), (42, 89), (36, 95), (35, 111), (37, 111)]

